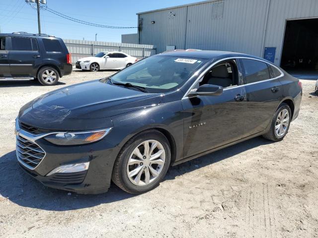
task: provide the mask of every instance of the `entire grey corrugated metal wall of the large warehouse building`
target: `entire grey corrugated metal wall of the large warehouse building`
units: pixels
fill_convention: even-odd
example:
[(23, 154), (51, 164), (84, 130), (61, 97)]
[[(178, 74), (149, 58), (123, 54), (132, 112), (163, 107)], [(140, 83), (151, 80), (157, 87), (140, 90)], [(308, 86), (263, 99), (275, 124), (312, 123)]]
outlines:
[[(216, 18), (212, 9), (220, 2), (223, 16)], [(286, 19), (306, 17), (318, 17), (318, 0), (212, 0), (139, 14), (139, 38), (157, 53), (176, 46), (263, 57), (265, 47), (276, 47), (279, 64)]]

